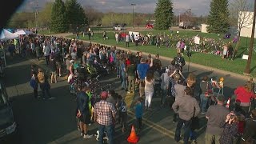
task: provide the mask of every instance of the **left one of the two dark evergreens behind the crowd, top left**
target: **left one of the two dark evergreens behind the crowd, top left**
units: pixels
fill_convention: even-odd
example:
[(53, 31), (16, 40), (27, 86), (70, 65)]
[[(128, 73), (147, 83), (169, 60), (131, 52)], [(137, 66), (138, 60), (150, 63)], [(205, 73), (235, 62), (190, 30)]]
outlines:
[(54, 32), (66, 32), (66, 8), (62, 0), (55, 0), (50, 19), (50, 29)]

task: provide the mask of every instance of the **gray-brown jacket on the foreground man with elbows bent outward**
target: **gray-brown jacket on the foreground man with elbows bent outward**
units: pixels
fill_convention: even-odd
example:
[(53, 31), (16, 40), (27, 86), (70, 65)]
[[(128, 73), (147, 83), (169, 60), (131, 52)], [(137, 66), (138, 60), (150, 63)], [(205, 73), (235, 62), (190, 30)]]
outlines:
[(198, 116), (200, 107), (195, 98), (184, 94), (182, 98), (177, 98), (172, 106), (179, 118), (189, 121), (191, 118)]

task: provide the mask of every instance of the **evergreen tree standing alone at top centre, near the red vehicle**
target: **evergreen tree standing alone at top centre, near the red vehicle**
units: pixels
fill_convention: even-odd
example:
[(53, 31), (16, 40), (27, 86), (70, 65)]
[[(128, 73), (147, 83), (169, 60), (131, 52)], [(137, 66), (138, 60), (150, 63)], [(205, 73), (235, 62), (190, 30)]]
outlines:
[(170, 0), (158, 0), (154, 10), (154, 29), (168, 30), (173, 21), (173, 2)]

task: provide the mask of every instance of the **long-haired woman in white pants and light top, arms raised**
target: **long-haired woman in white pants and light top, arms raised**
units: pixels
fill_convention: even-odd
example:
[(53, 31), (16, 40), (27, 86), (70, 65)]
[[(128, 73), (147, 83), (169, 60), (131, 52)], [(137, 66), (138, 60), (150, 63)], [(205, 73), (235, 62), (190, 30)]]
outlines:
[(154, 94), (154, 74), (152, 71), (146, 73), (145, 78), (145, 108), (151, 110), (151, 100)]

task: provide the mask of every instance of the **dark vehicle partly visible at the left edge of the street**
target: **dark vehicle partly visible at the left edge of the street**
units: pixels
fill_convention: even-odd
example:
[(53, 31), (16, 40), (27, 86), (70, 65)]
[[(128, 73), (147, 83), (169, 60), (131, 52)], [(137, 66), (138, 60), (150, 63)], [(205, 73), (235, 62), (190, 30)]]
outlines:
[(0, 140), (17, 132), (16, 126), (6, 87), (0, 80)]

